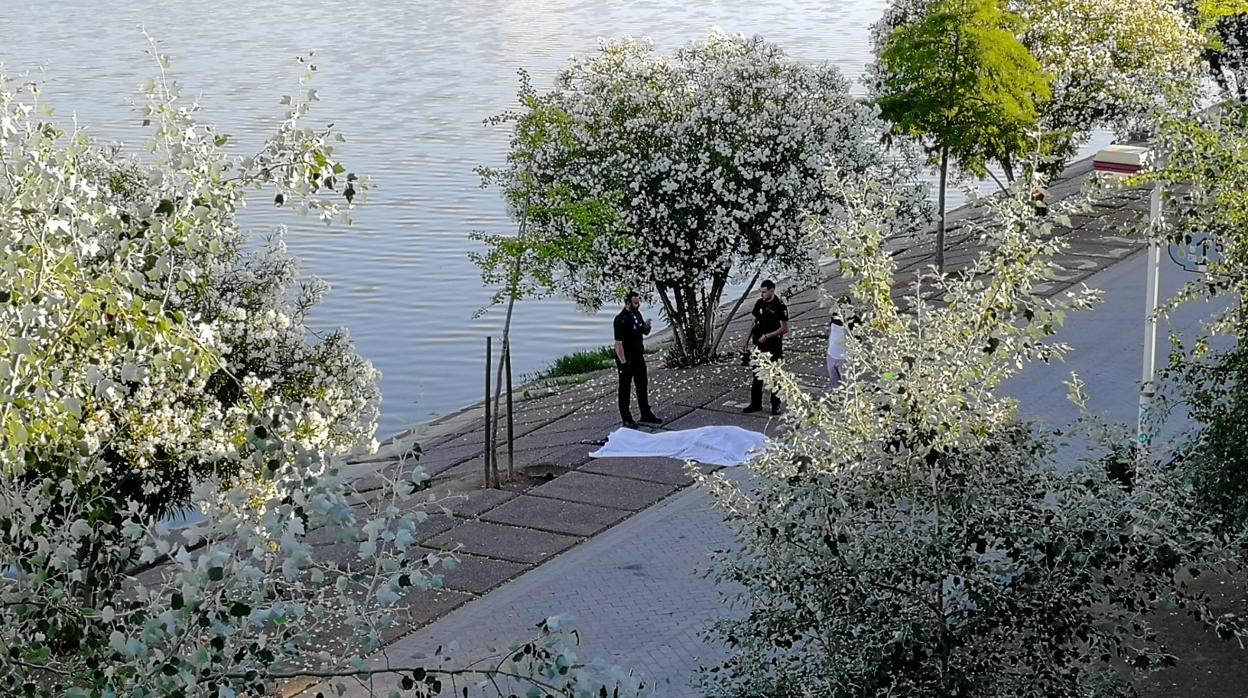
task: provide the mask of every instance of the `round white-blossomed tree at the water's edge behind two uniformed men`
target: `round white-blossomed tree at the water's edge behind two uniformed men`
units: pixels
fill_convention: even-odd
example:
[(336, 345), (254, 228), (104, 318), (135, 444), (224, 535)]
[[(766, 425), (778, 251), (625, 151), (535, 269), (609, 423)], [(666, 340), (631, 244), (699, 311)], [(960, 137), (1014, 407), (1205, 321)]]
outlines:
[[(498, 119), (515, 126), (508, 164), (484, 175), (525, 233), (485, 237), (475, 257), (485, 281), (508, 285), (518, 268), (529, 293), (587, 308), (653, 290), (684, 363), (713, 355), (734, 278), (815, 271), (801, 222), (830, 211), (825, 167), (890, 161), (882, 125), (835, 67), (758, 37), (713, 34), (671, 57), (646, 41), (604, 41), (549, 92), (523, 79), (519, 97)], [(910, 181), (899, 160), (897, 179)], [(909, 204), (926, 210), (920, 187)], [(899, 219), (910, 231), (920, 220)]]

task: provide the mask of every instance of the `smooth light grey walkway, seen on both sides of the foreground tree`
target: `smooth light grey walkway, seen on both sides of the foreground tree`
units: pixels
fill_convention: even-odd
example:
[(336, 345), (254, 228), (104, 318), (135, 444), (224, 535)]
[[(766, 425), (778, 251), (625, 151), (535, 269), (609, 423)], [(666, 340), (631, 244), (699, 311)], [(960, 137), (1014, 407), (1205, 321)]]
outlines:
[[(1183, 281), (1176, 268), (1163, 270), (1163, 293), (1172, 293)], [(1035, 365), (1007, 386), (1021, 401), (1026, 418), (1057, 425), (1068, 420), (1071, 410), (1061, 383), (1071, 371), (1087, 378), (1093, 410), (1123, 422), (1134, 415), (1143, 336), (1143, 256), (1113, 265), (1088, 283), (1103, 288), (1106, 301), (1072, 317), (1060, 333), (1076, 348), (1070, 361)], [(1162, 327), (1162, 336), (1168, 328), (1191, 336), (1207, 311), (1183, 310)], [(744, 471), (724, 473), (740, 478)], [(600, 657), (643, 671), (656, 696), (703, 696), (691, 684), (698, 667), (713, 663), (723, 651), (704, 643), (701, 633), (716, 617), (731, 612), (704, 572), (711, 551), (731, 543), (706, 494), (685, 489), (399, 639), (387, 654), (401, 666), (417, 653), (456, 641), (464, 657), (473, 657), (488, 647), (530, 637), (542, 618), (572, 613), (584, 639), (580, 657)], [(1227, 661), (1226, 648), (1207, 659), (1217, 667)]]

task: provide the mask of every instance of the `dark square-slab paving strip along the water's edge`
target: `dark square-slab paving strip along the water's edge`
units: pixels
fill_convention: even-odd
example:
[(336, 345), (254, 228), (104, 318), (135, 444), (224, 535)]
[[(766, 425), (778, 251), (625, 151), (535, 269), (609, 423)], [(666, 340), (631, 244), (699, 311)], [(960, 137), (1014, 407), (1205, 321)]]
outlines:
[[(1077, 191), (1088, 169), (1087, 162), (1072, 166), (1070, 177), (1050, 189), (1051, 199)], [(1072, 216), (1072, 227), (1058, 231), (1071, 241), (1068, 253), (1057, 260), (1063, 271), (1036, 292), (1061, 292), (1138, 250), (1141, 241), (1121, 237), (1121, 230), (1146, 207), (1138, 192), (1124, 192), (1107, 197), (1090, 215)], [(963, 209), (951, 216), (946, 260), (952, 270), (982, 251), (978, 238), (963, 230), (965, 221), (976, 215), (977, 210)], [(899, 293), (909, 292), (909, 278), (931, 261), (926, 242), (907, 245), (902, 241), (894, 248)], [(830, 272), (822, 290), (842, 293), (846, 282)], [(794, 331), (785, 340), (785, 365), (812, 392), (826, 387), (827, 311), (820, 301), (817, 287), (787, 298)], [(726, 346), (740, 342), (748, 323), (746, 315), (729, 325)], [(367, 501), (378, 491), (382, 477), (413, 467), (398, 456), (418, 443), (423, 451), (418, 465), (433, 476), (434, 492), (463, 497), (451, 514), (431, 517), (421, 531), (422, 544), (456, 548), (464, 554), (464, 564), (447, 577), (446, 592), (413, 599), (416, 607), (409, 618), (413, 628), (600, 534), (690, 483), (678, 461), (589, 458), (595, 445), (619, 427), (615, 377), (614, 372), (608, 373), (517, 405), (515, 473), (502, 489), (482, 487), (480, 406), (439, 420), (419, 433), (396, 437), (369, 462), (357, 466), (354, 484), (362, 492), (361, 499)], [(749, 382), (750, 370), (734, 360), (686, 370), (655, 367), (650, 396), (666, 420), (663, 430), (736, 425), (774, 433), (779, 428), (776, 421), (740, 413), (749, 400)], [(503, 461), (507, 462), (505, 456)], [(313, 541), (322, 544), (321, 554), (326, 558), (346, 562), (352, 556), (352, 546), (334, 543), (329, 532), (313, 533)]]

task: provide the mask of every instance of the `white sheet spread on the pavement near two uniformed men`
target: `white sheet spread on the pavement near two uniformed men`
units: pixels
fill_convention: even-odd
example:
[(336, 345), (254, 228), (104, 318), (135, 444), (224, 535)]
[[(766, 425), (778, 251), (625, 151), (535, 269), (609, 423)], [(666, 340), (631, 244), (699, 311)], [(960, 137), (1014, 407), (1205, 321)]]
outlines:
[(607, 445), (590, 453), (594, 458), (664, 457), (698, 461), (710, 466), (739, 466), (768, 446), (768, 437), (741, 427), (699, 427), (649, 433), (618, 428)]

